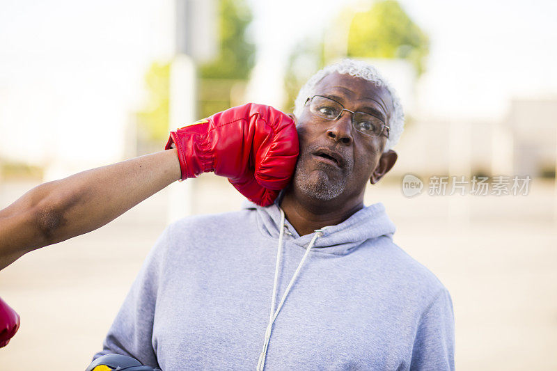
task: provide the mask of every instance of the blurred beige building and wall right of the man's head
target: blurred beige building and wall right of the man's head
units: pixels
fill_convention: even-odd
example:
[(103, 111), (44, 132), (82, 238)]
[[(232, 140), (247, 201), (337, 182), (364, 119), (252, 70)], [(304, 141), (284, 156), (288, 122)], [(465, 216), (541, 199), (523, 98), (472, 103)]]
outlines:
[(409, 116), (393, 173), (554, 178), (557, 99), (516, 99), (499, 120)]

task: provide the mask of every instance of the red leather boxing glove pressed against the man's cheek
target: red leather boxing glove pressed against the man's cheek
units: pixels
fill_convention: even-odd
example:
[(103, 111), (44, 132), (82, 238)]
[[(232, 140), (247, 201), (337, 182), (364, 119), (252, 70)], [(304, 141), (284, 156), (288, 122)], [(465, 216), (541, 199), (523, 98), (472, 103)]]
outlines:
[(294, 120), (271, 106), (244, 104), (170, 133), (182, 180), (214, 171), (241, 194), (271, 205), (290, 182), (299, 153)]

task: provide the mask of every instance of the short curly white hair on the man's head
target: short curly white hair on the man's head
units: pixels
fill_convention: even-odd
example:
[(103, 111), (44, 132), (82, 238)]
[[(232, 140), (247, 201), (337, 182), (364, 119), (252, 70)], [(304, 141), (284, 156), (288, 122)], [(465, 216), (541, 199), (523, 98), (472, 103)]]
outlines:
[(315, 95), (315, 86), (319, 81), (321, 81), (327, 75), (338, 72), (339, 74), (350, 74), (350, 76), (359, 77), (361, 79), (370, 81), (375, 84), (375, 86), (384, 86), (386, 90), (391, 95), (393, 100), (393, 112), (390, 114), (389, 118), (389, 138), (385, 143), (384, 152), (390, 150), (398, 143), (402, 130), (405, 126), (405, 114), (402, 111), (402, 104), (394, 88), (389, 85), (389, 82), (382, 77), (377, 69), (366, 63), (364, 61), (356, 61), (354, 59), (345, 58), (338, 63), (328, 65), (325, 68), (317, 71), (304, 86), (301, 87), (298, 96), (295, 100), (294, 115), (299, 117), (301, 111), (304, 109), (304, 104), (308, 97)]

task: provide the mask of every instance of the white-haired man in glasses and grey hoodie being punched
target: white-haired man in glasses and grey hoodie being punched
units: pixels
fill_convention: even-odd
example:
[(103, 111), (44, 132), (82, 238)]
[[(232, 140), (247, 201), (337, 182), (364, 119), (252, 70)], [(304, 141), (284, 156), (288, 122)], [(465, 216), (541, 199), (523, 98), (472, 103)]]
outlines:
[[(363, 205), (366, 183), (397, 159), (393, 89), (345, 60), (301, 88), (295, 118), (289, 186), (267, 207), (168, 227), (95, 357), (162, 370), (454, 369), (448, 291), (393, 243), (384, 206)], [(182, 177), (190, 134), (173, 132), (168, 145)]]

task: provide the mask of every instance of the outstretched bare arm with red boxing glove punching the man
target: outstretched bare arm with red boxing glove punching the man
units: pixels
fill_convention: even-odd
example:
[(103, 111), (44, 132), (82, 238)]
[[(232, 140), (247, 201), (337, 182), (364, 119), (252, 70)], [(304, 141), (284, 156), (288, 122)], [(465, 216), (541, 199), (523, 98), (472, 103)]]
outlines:
[(245, 104), (171, 132), (166, 149), (41, 184), (0, 210), (0, 269), (29, 251), (104, 226), (175, 180), (207, 171), (270, 205), (290, 182), (298, 136), (285, 113)]

